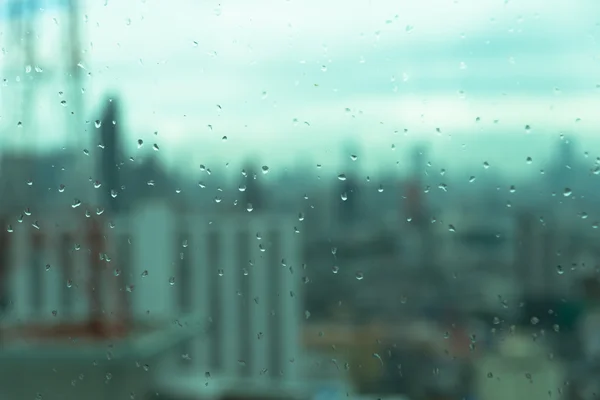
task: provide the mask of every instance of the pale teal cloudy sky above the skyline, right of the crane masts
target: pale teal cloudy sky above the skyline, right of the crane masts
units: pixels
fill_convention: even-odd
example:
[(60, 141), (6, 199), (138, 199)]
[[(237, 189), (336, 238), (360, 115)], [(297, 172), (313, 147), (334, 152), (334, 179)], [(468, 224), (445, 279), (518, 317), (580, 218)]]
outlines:
[[(87, 0), (81, 14), (88, 114), (118, 93), (131, 148), (157, 142), (182, 166), (335, 164), (348, 136), (371, 165), (418, 140), (434, 158), (524, 165), (560, 131), (600, 151), (595, 0)], [(52, 63), (66, 18), (40, 18)]]

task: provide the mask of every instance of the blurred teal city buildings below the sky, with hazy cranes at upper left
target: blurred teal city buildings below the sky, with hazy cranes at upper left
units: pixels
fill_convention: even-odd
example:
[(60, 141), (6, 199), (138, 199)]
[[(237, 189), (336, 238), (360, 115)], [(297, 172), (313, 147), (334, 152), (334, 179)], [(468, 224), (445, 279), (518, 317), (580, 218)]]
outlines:
[[(351, 135), (334, 167), (249, 150), (173, 168), (158, 131), (131, 145), (120, 91), (84, 103), (77, 1), (49, 3), (62, 53), (43, 72), (40, 5), (7, 4), (0, 398), (600, 393), (600, 157), (579, 132), (530, 175), (469, 172), (428, 137), (367, 175)], [(64, 146), (44, 148), (48, 121)]]

